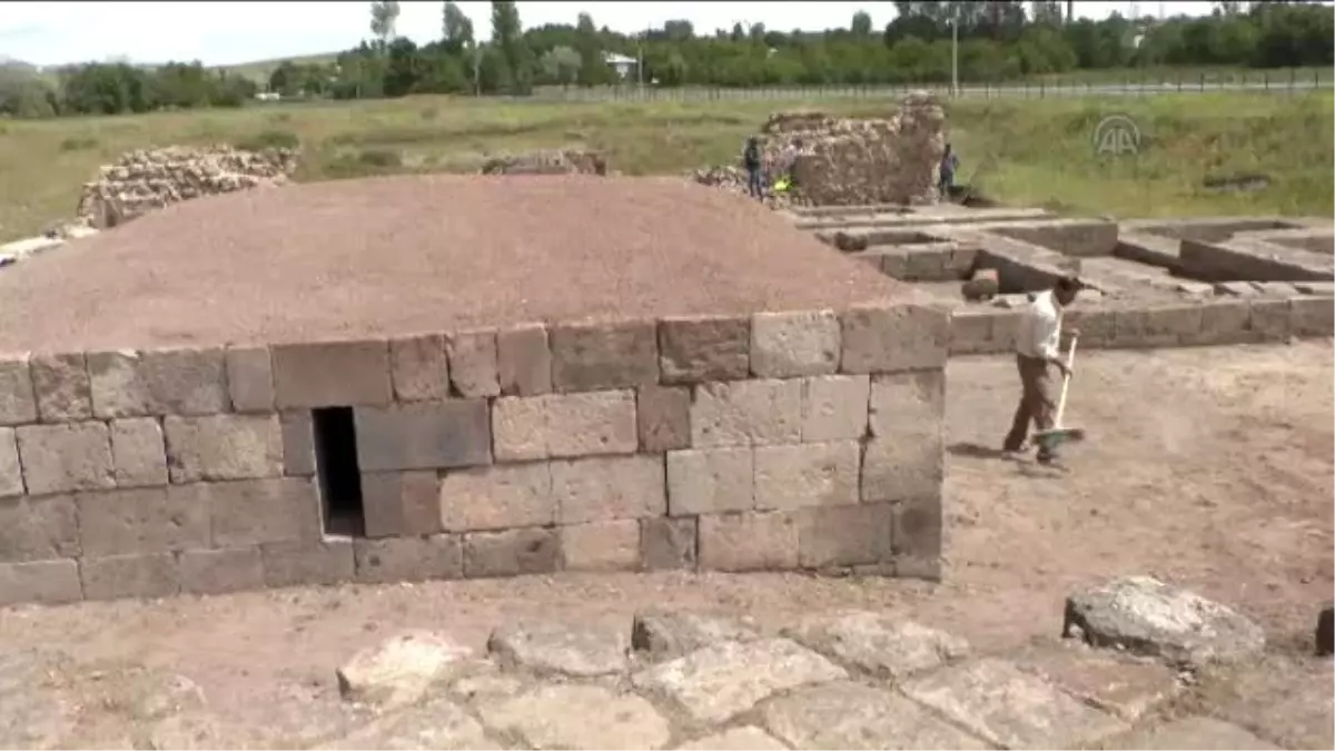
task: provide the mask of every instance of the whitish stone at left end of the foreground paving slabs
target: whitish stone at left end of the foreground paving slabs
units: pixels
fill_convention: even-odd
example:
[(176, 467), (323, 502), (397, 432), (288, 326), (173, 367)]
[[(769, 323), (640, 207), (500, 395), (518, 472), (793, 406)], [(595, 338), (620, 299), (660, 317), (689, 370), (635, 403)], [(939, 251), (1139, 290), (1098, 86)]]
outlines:
[(473, 649), (427, 631), (406, 631), (362, 649), (338, 671), (350, 702), (398, 707), (417, 702), (433, 684), (457, 675)]

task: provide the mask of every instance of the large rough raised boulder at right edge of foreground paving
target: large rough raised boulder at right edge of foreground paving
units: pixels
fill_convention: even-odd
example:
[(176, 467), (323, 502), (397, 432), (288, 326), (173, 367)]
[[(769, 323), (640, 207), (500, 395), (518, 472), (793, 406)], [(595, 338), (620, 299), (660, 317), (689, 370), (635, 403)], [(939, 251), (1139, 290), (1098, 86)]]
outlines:
[(1148, 576), (1119, 579), (1067, 599), (1063, 635), (1172, 663), (1235, 663), (1266, 648), (1266, 632), (1232, 608)]

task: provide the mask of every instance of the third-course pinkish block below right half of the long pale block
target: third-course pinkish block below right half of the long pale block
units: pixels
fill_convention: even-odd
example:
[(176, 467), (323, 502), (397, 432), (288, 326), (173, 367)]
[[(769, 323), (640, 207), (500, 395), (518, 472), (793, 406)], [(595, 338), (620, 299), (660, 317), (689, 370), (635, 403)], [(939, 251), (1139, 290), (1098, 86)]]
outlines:
[(663, 460), (657, 454), (551, 462), (558, 524), (663, 516)]

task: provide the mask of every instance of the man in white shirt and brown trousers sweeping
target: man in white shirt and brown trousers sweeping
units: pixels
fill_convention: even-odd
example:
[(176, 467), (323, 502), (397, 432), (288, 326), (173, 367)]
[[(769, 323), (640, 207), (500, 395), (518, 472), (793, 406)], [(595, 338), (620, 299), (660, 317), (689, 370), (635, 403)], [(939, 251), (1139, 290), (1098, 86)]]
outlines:
[[(1052, 429), (1052, 413), (1056, 400), (1052, 396), (1052, 369), (1069, 377), (1071, 370), (1061, 359), (1061, 314), (1075, 302), (1080, 291), (1080, 281), (1075, 277), (1057, 279), (1053, 289), (1039, 293), (1020, 317), (1020, 330), (1016, 335), (1016, 365), (1020, 369), (1020, 406), (1015, 409), (1015, 421), (1005, 437), (1003, 449), (1016, 453), (1024, 450), (1029, 437), (1029, 424), (1037, 430)], [(1039, 446), (1039, 462), (1051, 464), (1056, 453), (1044, 445)]]

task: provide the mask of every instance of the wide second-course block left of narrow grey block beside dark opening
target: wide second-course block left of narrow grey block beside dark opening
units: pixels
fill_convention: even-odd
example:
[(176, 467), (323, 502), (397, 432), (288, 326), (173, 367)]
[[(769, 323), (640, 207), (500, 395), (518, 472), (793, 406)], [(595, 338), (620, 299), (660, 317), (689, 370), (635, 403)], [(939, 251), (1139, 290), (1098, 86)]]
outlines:
[(276, 414), (168, 416), (163, 432), (172, 482), (283, 474), (283, 432)]

